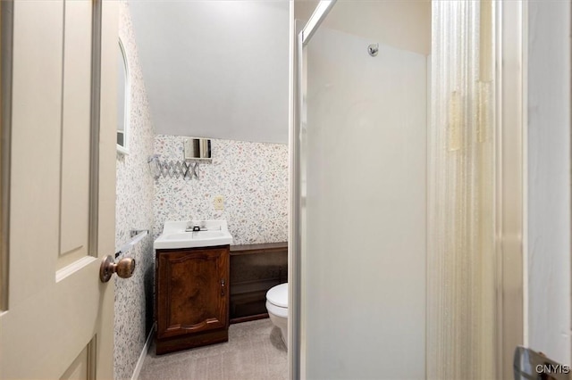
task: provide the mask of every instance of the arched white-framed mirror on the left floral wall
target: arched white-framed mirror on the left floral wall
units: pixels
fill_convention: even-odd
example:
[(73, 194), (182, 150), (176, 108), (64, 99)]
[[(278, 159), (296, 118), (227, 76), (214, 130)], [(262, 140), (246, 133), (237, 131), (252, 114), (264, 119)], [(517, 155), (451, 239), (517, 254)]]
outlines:
[(117, 152), (129, 153), (129, 122), (130, 122), (130, 80), (129, 64), (125, 47), (119, 40), (117, 56)]

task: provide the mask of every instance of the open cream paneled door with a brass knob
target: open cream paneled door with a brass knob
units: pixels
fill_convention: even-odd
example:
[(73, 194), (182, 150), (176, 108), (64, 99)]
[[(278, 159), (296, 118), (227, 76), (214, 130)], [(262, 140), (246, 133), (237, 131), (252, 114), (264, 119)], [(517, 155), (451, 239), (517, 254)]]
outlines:
[(0, 378), (113, 378), (114, 285), (99, 268), (114, 252), (116, 4), (15, 0), (3, 12), (13, 64)]

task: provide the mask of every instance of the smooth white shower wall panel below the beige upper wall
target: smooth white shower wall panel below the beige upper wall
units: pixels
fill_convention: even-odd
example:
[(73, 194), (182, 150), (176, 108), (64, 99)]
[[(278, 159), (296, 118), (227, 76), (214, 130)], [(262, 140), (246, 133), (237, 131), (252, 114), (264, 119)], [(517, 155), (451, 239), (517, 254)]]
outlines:
[(311, 379), (425, 378), (426, 57), (370, 42), (322, 28), (307, 48)]

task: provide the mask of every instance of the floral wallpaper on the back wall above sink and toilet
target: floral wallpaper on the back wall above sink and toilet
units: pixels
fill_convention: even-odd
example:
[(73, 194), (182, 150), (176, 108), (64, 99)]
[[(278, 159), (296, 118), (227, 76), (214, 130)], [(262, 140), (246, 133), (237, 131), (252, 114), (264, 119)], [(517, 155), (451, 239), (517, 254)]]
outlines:
[[(161, 161), (183, 159), (185, 136), (158, 135)], [(199, 163), (199, 178), (155, 181), (155, 236), (165, 220), (226, 219), (234, 244), (288, 239), (288, 145), (211, 141), (212, 162)], [(224, 210), (214, 210), (222, 195)]]

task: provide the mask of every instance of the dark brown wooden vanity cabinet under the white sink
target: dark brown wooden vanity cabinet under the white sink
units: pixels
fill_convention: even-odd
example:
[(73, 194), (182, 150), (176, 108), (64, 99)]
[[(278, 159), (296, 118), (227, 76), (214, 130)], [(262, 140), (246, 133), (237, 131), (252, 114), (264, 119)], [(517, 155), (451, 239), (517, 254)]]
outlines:
[(229, 245), (156, 250), (156, 353), (228, 341)]

